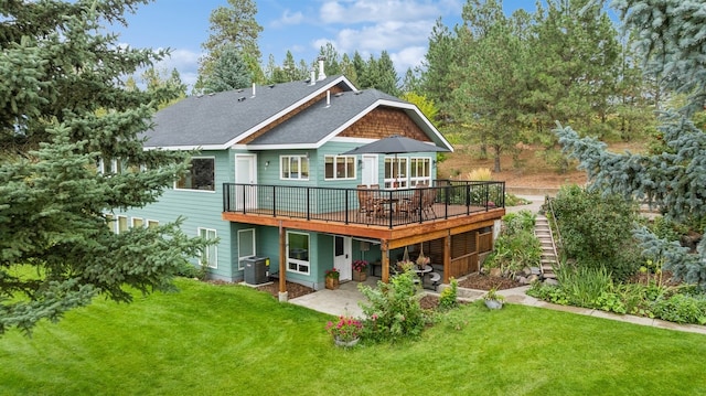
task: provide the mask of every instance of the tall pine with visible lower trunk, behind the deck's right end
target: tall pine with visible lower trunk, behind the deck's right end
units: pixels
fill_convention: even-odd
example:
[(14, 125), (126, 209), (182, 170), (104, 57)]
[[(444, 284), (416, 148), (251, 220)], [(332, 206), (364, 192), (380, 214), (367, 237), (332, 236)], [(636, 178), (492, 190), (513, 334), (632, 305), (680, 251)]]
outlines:
[(527, 90), (526, 41), (518, 31), (523, 24), (505, 17), (502, 4), (494, 0), (470, 0), (463, 19), (459, 40), (472, 50), (452, 68), (459, 86), (449, 108), (454, 120), (478, 131), (478, 142), (493, 149), (493, 171), (500, 172), (501, 154), (521, 141), (523, 130), (522, 104)]

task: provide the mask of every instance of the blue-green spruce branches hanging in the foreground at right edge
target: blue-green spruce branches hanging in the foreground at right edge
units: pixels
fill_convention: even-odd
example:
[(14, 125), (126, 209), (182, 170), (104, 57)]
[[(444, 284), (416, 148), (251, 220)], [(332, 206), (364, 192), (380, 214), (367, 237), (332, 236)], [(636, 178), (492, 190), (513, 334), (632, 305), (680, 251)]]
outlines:
[[(686, 106), (661, 114), (660, 131), (666, 150), (656, 154), (617, 154), (592, 138), (580, 139), (570, 127), (557, 129), (559, 141), (587, 170), (592, 189), (629, 199), (649, 199), (667, 220), (691, 224), (699, 233), (706, 224), (706, 135), (692, 120), (706, 100), (706, 35), (703, 1), (620, 0), (612, 6), (627, 29), (635, 31), (645, 72), (664, 76), (662, 86), (689, 95)], [(639, 228), (648, 255), (688, 282), (706, 289), (706, 238), (696, 253)]]

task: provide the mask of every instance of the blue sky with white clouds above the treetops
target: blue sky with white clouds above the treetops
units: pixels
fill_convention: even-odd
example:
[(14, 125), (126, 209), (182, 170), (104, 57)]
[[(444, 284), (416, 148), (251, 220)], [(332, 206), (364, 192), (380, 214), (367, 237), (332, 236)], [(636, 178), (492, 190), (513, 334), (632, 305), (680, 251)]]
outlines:
[[(339, 53), (355, 51), (367, 60), (383, 50), (391, 55), (399, 77), (420, 64), (429, 33), (441, 18), (447, 26), (461, 22), (464, 0), (256, 0), (255, 19), (261, 63), (269, 55), (281, 65), (287, 51), (295, 61), (312, 62), (321, 46), (331, 42)], [(535, 10), (535, 0), (505, 0), (507, 13)], [(196, 81), (201, 44), (206, 41), (208, 15), (226, 0), (154, 0), (128, 14), (128, 26), (109, 26), (118, 41), (132, 47), (171, 49), (171, 57), (158, 69), (176, 68), (189, 86)]]

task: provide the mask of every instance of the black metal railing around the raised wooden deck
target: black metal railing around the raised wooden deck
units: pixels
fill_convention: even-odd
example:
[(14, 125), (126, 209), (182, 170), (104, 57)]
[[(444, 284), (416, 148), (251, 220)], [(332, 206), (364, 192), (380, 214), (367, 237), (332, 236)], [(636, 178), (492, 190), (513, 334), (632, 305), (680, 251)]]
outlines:
[(504, 182), (437, 180), (430, 188), (365, 190), (367, 196), (375, 197), (375, 211), (361, 202), (359, 192), (359, 189), (224, 183), (223, 211), (392, 228), (468, 216), (505, 205)]

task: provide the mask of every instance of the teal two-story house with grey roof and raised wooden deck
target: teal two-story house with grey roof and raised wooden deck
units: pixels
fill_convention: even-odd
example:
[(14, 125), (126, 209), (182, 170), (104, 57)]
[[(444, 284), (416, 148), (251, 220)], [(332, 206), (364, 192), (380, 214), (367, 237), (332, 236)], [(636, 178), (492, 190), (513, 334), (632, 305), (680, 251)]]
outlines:
[[(321, 71), (322, 72), (322, 71)], [(116, 213), (116, 231), (184, 216), (188, 234), (218, 237), (201, 259), (215, 279), (268, 275), (322, 288), (328, 269), (351, 279), (355, 259), (391, 264), (424, 249), (448, 282), (478, 270), (504, 215), (504, 184), (437, 180), (437, 153), (344, 154), (391, 136), (452, 150), (419, 109), (344, 76), (185, 98), (154, 115), (148, 150), (197, 150), (190, 173), (159, 202)]]

